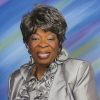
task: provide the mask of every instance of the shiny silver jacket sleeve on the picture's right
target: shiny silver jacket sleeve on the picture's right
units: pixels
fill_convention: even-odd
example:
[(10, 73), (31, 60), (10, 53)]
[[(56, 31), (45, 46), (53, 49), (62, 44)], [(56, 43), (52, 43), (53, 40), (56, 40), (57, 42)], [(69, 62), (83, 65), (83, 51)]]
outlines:
[(73, 95), (75, 100), (98, 100), (93, 69), (88, 62), (82, 62), (78, 68)]

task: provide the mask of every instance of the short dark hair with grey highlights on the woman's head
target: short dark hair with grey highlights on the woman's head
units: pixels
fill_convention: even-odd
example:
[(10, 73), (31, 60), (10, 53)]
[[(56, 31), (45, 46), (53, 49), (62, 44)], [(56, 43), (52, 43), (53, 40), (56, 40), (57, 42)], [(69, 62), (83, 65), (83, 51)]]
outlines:
[(38, 28), (41, 28), (44, 31), (51, 31), (56, 34), (62, 47), (67, 23), (56, 8), (48, 5), (38, 5), (31, 12), (23, 16), (20, 28), (25, 44), (28, 43), (29, 37)]

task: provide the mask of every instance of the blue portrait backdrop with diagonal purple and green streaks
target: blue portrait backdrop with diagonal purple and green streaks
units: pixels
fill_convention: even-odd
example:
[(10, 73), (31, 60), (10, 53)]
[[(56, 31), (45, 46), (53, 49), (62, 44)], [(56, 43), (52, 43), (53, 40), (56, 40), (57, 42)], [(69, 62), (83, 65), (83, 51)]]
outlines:
[(63, 14), (68, 23), (63, 45), (69, 57), (92, 64), (100, 96), (99, 0), (0, 0), (0, 100), (8, 100), (10, 74), (29, 61), (20, 22), (22, 16), (38, 4), (54, 6)]

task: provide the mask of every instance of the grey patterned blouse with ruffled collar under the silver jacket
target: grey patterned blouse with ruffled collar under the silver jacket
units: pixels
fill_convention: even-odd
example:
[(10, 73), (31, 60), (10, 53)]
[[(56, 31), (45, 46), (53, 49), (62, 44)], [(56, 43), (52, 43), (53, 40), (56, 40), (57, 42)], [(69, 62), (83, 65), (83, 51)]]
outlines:
[[(47, 68), (41, 80), (37, 80), (32, 76), (32, 66), (34, 61), (31, 58), (30, 65), (21, 68), (22, 76), (25, 78), (24, 84), (21, 86), (17, 100), (48, 100), (50, 88), (56, 74), (58, 64), (63, 63), (67, 59), (67, 53), (63, 49), (59, 57)], [(26, 76), (25, 76), (26, 75)]]

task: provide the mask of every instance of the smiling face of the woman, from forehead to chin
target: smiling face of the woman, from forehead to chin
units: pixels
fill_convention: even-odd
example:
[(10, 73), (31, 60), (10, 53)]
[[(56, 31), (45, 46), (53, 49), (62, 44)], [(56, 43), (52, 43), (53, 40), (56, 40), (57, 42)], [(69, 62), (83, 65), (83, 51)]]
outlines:
[(38, 28), (30, 36), (28, 47), (37, 65), (48, 66), (58, 55), (59, 41), (56, 34)]

